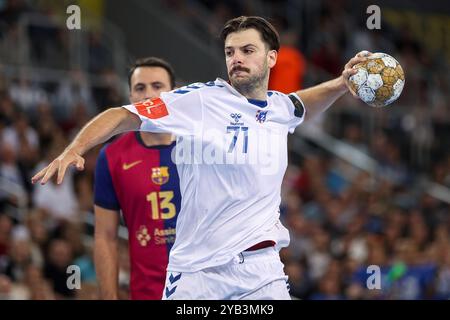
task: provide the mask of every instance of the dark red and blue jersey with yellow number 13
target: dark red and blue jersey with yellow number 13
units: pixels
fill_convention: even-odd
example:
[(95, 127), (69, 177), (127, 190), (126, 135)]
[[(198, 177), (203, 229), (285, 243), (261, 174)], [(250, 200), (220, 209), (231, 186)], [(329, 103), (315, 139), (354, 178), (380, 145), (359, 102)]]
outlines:
[(103, 147), (97, 160), (95, 204), (122, 210), (128, 228), (131, 299), (162, 296), (181, 203), (174, 146), (147, 147), (130, 132)]

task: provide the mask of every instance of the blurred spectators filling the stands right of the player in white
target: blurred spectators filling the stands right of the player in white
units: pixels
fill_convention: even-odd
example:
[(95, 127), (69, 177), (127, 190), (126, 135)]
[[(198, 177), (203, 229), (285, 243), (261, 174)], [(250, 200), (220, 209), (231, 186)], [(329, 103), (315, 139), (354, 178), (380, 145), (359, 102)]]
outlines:
[[(355, 19), (349, 2), (325, 4), (305, 47), (310, 69), (305, 75), (337, 76), (346, 59), (367, 49), (396, 57), (406, 87), (385, 110), (345, 97), (320, 123), (375, 159), (376, 172), (358, 170), (317, 146), (291, 157), (282, 201), (291, 231), (291, 245), (283, 251), (291, 294), (449, 299), (450, 199), (435, 199), (422, 185), (429, 179), (450, 187), (449, 63), (407, 27), (392, 29), (384, 22), (381, 30), (367, 32), (367, 16)], [(368, 288), (371, 265), (380, 267), (380, 290)]]

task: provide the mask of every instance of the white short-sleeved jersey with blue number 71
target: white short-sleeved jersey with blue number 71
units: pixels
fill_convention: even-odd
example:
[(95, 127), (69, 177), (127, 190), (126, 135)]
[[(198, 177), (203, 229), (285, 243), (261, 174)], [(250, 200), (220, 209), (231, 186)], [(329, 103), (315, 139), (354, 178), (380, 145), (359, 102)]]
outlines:
[(289, 244), (279, 222), (281, 182), (287, 133), (304, 119), (289, 96), (269, 91), (267, 101), (251, 100), (217, 79), (125, 108), (140, 117), (140, 130), (177, 136), (182, 201), (167, 270), (223, 265), (265, 240)]

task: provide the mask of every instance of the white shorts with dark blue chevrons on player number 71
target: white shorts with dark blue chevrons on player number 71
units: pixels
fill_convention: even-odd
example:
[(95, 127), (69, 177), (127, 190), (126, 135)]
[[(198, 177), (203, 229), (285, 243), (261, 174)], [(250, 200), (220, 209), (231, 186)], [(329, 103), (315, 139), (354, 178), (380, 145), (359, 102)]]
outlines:
[(167, 272), (163, 300), (290, 300), (274, 247), (244, 251), (228, 264), (197, 272)]

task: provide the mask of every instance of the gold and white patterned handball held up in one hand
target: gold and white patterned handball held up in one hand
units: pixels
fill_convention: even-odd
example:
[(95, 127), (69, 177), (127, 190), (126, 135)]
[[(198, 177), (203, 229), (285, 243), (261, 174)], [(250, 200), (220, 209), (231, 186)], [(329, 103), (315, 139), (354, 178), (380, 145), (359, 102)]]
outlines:
[(377, 52), (353, 68), (358, 73), (349, 78), (351, 90), (372, 107), (385, 107), (400, 97), (405, 85), (401, 65), (386, 53)]

